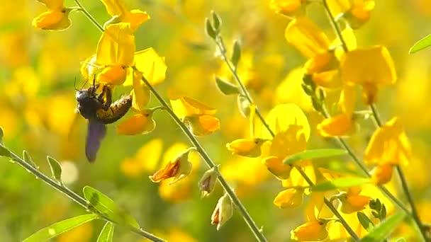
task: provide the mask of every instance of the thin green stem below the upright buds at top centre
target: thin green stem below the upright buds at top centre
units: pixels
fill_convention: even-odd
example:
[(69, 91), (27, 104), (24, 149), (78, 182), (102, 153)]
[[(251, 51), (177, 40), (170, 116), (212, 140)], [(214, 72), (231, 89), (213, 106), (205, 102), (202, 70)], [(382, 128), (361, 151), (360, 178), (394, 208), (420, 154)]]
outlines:
[[(223, 58), (223, 61), (228, 66), (228, 68), (229, 68), (230, 72), (232, 73), (235, 81), (237, 81), (238, 86), (240, 86), (242, 94), (245, 96), (245, 98), (247, 98), (247, 100), (250, 104), (254, 103), (252, 96), (250, 96), (250, 93), (247, 91), (247, 88), (245, 88), (244, 83), (242, 83), (240, 76), (238, 76), (236, 68), (233, 67), (233, 64), (229, 62), (229, 59), (226, 56), (225, 43), (223, 42), (223, 38), (220, 35), (217, 35), (217, 37), (215, 38), (215, 43), (217, 44), (218, 49), (220, 50), (220, 54)], [(259, 117), (259, 120), (262, 121), (262, 124), (268, 130), (269, 134), (271, 134), (272, 137), (274, 137), (275, 136), (274, 132), (272, 132), (272, 130), (269, 127), (269, 125), (267, 124), (267, 122), (265, 122), (264, 116), (262, 115), (262, 113), (260, 113), (260, 110), (259, 110), (259, 108), (257, 108), (257, 106), (256, 106), (255, 110), (256, 110), (257, 117)]]

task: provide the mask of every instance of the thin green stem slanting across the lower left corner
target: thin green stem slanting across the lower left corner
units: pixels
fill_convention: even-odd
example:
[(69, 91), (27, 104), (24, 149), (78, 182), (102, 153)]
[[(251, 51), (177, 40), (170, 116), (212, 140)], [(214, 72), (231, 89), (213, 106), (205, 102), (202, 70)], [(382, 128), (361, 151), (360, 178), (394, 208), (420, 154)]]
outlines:
[[(6, 147), (4, 147), (4, 148), (7, 149)], [(109, 217), (106, 217), (105, 214), (101, 214), (101, 213), (97, 212), (91, 206), (89, 206), (89, 202), (87, 200), (85, 200), (84, 197), (81, 197), (76, 192), (70, 190), (69, 188), (65, 187), (64, 185), (60, 185), (60, 183), (58, 183), (56, 180), (53, 180), (52, 178), (48, 177), (44, 173), (41, 173), (37, 168), (34, 168), (33, 166), (31, 166), (29, 163), (27, 163), (26, 161), (21, 159), (21, 157), (18, 156), (17, 154), (13, 153), (12, 151), (10, 151), (10, 152), (11, 152), (11, 159), (13, 159), (13, 161), (16, 161), (16, 163), (18, 163), (18, 165), (25, 168), (28, 172), (35, 175), (36, 178), (39, 178), (40, 180), (42, 180), (47, 185), (50, 185), (52, 188), (54, 188), (58, 192), (61, 192), (63, 195), (66, 195), (72, 201), (81, 205), (82, 207), (84, 207), (84, 209), (86, 209), (89, 212), (92, 212), (94, 214), (98, 214), (101, 219), (103, 219), (105, 221), (109, 221), (113, 224), (117, 224), (119, 226), (125, 226), (128, 228), (129, 231), (132, 231), (134, 234), (138, 234), (138, 236), (141, 236), (143, 238), (148, 238), (150, 241), (155, 241), (155, 242), (163, 242), (164, 241), (162, 238), (159, 238), (153, 234), (150, 234), (147, 231), (144, 231), (143, 229), (137, 229), (137, 228), (130, 226), (130, 225), (118, 224), (118, 222), (113, 221)]]

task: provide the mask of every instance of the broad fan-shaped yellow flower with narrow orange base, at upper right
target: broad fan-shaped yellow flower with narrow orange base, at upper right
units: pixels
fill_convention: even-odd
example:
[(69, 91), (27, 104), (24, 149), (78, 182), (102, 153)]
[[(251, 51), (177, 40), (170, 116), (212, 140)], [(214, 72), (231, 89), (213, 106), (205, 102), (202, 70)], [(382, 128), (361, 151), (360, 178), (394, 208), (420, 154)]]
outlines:
[(376, 102), (377, 88), (396, 81), (395, 67), (386, 47), (374, 46), (347, 52), (341, 65), (343, 81), (363, 87), (364, 102)]

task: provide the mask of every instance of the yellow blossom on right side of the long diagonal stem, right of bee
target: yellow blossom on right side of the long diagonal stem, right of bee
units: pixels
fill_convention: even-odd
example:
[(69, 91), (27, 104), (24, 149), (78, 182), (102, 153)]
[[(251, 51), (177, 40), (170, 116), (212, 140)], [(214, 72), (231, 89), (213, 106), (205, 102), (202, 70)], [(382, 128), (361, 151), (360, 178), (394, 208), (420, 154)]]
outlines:
[(211, 134), (220, 128), (220, 120), (214, 117), (215, 109), (192, 98), (180, 97), (171, 99), (172, 110), (183, 120), (196, 136)]

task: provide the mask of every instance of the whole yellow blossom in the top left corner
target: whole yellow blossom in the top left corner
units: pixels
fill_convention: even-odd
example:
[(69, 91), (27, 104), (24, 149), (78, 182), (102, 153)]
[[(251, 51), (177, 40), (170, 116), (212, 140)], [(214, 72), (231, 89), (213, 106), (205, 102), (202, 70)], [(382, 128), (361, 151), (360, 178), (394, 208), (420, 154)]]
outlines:
[(42, 30), (65, 30), (71, 25), (69, 13), (71, 8), (65, 8), (64, 0), (38, 0), (45, 4), (48, 11), (33, 18), (32, 25)]

